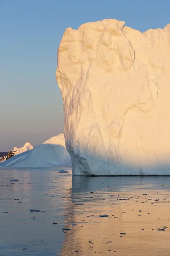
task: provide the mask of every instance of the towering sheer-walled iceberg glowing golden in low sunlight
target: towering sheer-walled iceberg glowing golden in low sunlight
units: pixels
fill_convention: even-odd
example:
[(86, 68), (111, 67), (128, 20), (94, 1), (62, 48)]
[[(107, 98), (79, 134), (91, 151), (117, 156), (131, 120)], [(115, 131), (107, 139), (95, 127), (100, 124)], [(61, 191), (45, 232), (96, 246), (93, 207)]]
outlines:
[(73, 175), (170, 175), (170, 24), (68, 28), (57, 62)]

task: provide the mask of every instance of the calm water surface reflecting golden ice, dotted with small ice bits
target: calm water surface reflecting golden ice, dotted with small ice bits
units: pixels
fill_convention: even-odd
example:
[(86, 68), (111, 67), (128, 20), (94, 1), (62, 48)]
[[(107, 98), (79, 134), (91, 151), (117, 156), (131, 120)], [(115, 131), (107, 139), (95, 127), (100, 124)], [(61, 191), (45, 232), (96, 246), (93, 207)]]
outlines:
[(170, 256), (170, 177), (67, 170), (0, 169), (0, 256)]

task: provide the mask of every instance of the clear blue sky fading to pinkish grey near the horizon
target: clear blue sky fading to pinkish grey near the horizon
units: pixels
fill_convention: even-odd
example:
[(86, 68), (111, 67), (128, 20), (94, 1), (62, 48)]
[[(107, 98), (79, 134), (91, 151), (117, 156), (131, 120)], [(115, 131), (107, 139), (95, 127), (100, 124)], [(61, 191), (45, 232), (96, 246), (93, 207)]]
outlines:
[(63, 132), (55, 71), (67, 27), (114, 18), (141, 32), (170, 23), (169, 0), (0, 0), (0, 151)]

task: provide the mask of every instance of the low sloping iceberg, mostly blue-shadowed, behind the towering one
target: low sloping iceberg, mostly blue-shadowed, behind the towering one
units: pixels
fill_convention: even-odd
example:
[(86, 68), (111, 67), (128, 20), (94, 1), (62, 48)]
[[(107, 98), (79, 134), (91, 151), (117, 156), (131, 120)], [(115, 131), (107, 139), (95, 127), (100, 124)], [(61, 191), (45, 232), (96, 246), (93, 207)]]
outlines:
[(4, 167), (70, 167), (71, 157), (65, 148), (64, 134), (52, 137), (32, 150), (14, 155), (0, 163)]

